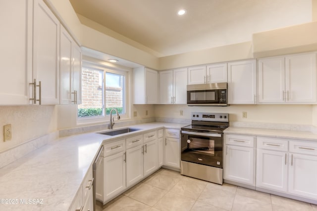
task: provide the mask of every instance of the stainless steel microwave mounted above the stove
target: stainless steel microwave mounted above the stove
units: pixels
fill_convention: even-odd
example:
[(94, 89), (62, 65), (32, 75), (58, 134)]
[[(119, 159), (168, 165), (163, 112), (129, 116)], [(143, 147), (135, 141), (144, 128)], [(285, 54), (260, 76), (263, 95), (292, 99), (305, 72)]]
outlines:
[(187, 105), (227, 106), (227, 83), (187, 85)]

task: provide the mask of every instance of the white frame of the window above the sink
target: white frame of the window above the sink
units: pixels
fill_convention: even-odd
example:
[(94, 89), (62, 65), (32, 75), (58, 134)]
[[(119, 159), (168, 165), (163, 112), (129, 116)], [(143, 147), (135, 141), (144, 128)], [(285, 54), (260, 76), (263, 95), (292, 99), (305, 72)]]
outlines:
[(88, 68), (98, 71), (103, 71), (103, 116), (94, 117), (78, 117), (78, 105), (76, 106), (76, 119), (77, 125), (94, 124), (94, 123), (107, 123), (110, 121), (110, 115), (106, 115), (106, 72), (123, 75), (125, 77), (125, 83), (122, 84), (122, 89), (124, 89), (123, 106), (125, 107), (125, 114), (120, 114), (120, 120), (130, 119), (131, 114), (131, 71), (125, 70), (125, 68), (120, 67), (108, 67), (103, 64), (96, 62), (83, 61), (82, 68)]

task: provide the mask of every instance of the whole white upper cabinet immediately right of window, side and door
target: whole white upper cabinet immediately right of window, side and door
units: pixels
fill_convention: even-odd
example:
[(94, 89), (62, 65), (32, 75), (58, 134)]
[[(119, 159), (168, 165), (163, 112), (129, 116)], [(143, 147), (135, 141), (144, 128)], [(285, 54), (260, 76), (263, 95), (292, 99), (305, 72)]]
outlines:
[(133, 69), (134, 104), (158, 103), (158, 72), (149, 68)]

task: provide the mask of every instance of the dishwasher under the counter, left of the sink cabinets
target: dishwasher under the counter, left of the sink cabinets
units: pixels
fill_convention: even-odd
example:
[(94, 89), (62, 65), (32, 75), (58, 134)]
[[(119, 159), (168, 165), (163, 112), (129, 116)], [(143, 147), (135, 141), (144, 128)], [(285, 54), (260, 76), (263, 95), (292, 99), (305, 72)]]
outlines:
[[(97, 201), (104, 200), (104, 146), (102, 146), (97, 154), (93, 164), (93, 197), (94, 197), (94, 211), (97, 210)], [(103, 205), (103, 204), (102, 204)]]

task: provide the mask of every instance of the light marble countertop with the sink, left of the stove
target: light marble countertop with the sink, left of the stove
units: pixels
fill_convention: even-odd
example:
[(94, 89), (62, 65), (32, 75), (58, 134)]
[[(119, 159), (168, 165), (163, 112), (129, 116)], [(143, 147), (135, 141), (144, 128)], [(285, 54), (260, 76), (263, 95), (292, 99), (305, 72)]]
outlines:
[[(146, 130), (186, 125), (154, 122), (131, 125), (140, 130), (128, 134), (85, 133), (59, 138), (0, 169), (0, 210), (67, 211), (103, 143)], [(24, 199), (41, 204), (23, 204)]]

